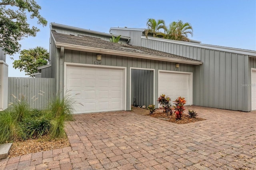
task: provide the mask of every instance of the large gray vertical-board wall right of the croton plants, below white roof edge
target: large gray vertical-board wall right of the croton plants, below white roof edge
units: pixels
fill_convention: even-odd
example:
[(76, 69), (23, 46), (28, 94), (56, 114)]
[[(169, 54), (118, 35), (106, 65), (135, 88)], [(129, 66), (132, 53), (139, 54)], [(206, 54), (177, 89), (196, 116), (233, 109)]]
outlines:
[(141, 38), (142, 46), (203, 62), (193, 75), (193, 105), (251, 111), (248, 55)]

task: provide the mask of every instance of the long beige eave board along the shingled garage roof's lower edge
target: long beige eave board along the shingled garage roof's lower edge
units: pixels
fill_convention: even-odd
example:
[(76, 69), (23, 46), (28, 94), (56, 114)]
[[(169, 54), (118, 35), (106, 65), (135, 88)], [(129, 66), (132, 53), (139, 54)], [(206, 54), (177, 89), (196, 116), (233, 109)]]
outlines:
[(92, 53), (122, 55), (122, 56), (126, 56), (126, 57), (153, 59), (153, 60), (159, 60), (159, 61), (169, 61), (169, 62), (174, 62), (174, 63), (184, 63), (184, 64), (192, 64), (192, 65), (201, 65), (202, 64), (202, 61), (190, 61), (190, 60), (175, 59), (175, 58), (161, 57), (161, 56), (155, 56), (155, 55), (130, 53), (130, 52), (125, 52), (125, 51), (116, 51), (116, 50), (110, 50), (110, 49), (87, 47), (87, 46), (83, 46), (83, 45), (73, 45), (73, 44), (68, 44), (68, 43), (56, 42), (55, 45), (57, 48), (64, 47), (65, 49), (87, 51), (87, 52), (92, 52)]

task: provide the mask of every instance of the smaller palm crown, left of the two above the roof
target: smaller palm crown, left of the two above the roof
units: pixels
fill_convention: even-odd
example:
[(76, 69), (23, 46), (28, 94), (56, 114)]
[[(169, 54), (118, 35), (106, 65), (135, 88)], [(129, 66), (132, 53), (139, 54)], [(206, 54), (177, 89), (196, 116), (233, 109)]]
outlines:
[(148, 33), (153, 33), (153, 37), (156, 37), (159, 33), (160, 29), (166, 29), (164, 20), (155, 20), (153, 18), (149, 18), (147, 21), (148, 30), (145, 32), (145, 36), (148, 36)]

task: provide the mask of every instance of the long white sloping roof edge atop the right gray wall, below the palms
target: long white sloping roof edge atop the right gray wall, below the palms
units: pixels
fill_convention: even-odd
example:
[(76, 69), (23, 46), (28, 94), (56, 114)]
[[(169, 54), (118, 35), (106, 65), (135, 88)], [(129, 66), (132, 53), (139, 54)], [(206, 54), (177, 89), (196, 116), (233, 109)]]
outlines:
[(154, 37), (146, 38), (145, 36), (141, 36), (141, 38), (148, 39), (148, 40), (156, 40), (156, 41), (160, 41), (160, 42), (169, 42), (169, 43), (176, 43), (176, 44), (182, 44), (182, 45), (189, 45), (189, 46), (193, 46), (193, 47), (226, 51), (226, 52), (230, 52), (230, 53), (239, 53), (239, 54), (249, 55), (250, 57), (256, 56), (256, 51), (250, 50), (250, 49), (224, 47), (224, 46), (209, 45), (209, 44), (203, 44), (203, 43), (182, 42), (182, 41), (167, 40), (167, 39), (163, 39), (163, 38), (154, 38)]

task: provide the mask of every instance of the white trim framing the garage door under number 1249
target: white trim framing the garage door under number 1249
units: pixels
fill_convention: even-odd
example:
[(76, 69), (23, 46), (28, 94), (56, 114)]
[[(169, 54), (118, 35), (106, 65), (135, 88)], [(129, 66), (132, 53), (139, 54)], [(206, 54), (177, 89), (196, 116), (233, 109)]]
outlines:
[(110, 68), (110, 69), (122, 69), (123, 70), (123, 109), (124, 111), (127, 110), (127, 105), (126, 105), (126, 97), (127, 97), (127, 84), (126, 84), (126, 79), (127, 79), (127, 71), (126, 67), (118, 67), (118, 66), (108, 66), (108, 65), (93, 65), (93, 64), (81, 64), (81, 63), (68, 63), (64, 62), (64, 93), (66, 92), (66, 70), (67, 66), (74, 66), (74, 67), (94, 67), (94, 68)]

